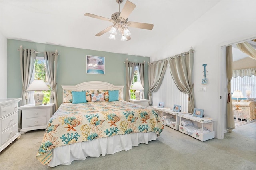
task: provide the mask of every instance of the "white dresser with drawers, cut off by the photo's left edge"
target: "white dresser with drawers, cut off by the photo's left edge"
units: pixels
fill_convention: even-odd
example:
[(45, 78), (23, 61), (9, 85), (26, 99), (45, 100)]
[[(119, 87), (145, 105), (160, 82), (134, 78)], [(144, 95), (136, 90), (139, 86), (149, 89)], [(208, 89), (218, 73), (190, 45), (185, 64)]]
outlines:
[(18, 102), (21, 98), (0, 99), (0, 152), (16, 138), (18, 132)]

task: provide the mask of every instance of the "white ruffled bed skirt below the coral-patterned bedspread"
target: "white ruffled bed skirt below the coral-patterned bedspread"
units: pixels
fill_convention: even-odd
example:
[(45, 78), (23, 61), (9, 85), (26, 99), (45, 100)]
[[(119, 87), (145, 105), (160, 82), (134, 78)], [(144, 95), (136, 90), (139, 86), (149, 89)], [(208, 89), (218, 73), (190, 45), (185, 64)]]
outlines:
[(132, 146), (138, 146), (140, 143), (148, 144), (149, 141), (156, 139), (157, 134), (153, 132), (132, 133), (65, 145), (53, 150), (52, 160), (48, 166), (70, 165), (73, 160), (85, 160), (88, 156), (99, 157), (101, 154), (105, 156), (122, 150), (127, 151), (132, 149)]

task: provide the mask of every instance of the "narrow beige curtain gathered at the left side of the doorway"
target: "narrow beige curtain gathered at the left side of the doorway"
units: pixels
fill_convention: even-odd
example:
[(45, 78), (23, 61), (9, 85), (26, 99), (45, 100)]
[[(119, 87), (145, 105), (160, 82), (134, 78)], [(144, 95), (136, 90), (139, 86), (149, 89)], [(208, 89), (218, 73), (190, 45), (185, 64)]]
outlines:
[(233, 76), (233, 56), (232, 56), (232, 46), (226, 48), (226, 72), (228, 78), (228, 102), (227, 102), (227, 128), (229, 132), (235, 129), (233, 105), (231, 100), (231, 79)]

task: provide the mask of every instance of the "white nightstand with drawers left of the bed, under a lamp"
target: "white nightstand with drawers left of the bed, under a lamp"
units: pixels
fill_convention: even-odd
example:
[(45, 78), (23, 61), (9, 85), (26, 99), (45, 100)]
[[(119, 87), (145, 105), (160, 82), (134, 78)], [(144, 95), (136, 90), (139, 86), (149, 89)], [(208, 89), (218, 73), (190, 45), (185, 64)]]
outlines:
[(19, 109), (22, 111), (22, 129), (20, 133), (24, 134), (27, 131), (46, 129), (47, 123), (54, 113), (54, 103), (47, 105), (34, 105), (27, 104), (20, 106)]

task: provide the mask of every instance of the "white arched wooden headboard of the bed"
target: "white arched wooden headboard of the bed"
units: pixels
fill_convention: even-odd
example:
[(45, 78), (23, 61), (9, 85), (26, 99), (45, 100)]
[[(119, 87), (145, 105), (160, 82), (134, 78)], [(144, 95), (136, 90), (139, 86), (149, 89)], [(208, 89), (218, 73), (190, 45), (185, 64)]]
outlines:
[[(124, 99), (124, 86), (115, 86), (107, 82), (90, 81), (83, 82), (77, 85), (62, 85), (62, 90), (83, 91), (83, 90), (121, 90), (122, 100)], [(62, 96), (64, 102), (64, 96)]]

